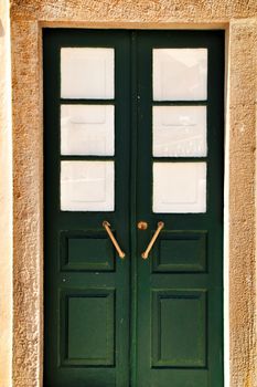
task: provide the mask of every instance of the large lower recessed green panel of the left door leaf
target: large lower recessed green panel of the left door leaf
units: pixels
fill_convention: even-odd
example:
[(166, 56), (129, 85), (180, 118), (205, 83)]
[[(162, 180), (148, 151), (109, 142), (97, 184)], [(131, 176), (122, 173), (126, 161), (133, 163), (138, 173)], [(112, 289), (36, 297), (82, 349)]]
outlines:
[(115, 290), (65, 290), (61, 299), (61, 366), (115, 365)]

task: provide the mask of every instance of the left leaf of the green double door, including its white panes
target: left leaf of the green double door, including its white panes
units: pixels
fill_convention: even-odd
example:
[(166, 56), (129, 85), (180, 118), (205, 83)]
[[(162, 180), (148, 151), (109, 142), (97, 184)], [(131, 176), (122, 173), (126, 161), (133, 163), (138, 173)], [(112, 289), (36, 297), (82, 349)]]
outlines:
[[(115, 95), (111, 92), (105, 98), (103, 94), (103, 100), (90, 100), (82, 94), (78, 98), (76, 94), (63, 97), (62, 76), (67, 71), (74, 75), (73, 67), (65, 67), (64, 75), (61, 74), (63, 49), (68, 60), (86, 61), (78, 64), (81, 73), (88, 66), (92, 72), (95, 67), (103, 72), (105, 60), (98, 61), (98, 54), (109, 55), (111, 51), (115, 67), (108, 65), (106, 74), (101, 75), (114, 83)], [(90, 57), (88, 62), (88, 53), (96, 54), (95, 66)], [(45, 387), (129, 385), (128, 55), (129, 33), (126, 31), (103, 34), (96, 30), (44, 30)], [(113, 72), (115, 79), (107, 80), (107, 73)], [(124, 76), (124, 72), (128, 76)], [(90, 82), (92, 93), (95, 83), (88, 72), (86, 80), (82, 80), (83, 86), (76, 80), (75, 90), (82, 93)], [(65, 87), (71, 87), (71, 80), (66, 81)], [(97, 93), (103, 84), (103, 80), (96, 80)], [(107, 108), (103, 109), (105, 106)], [(94, 112), (98, 112), (97, 117)], [(62, 121), (64, 113), (65, 122)], [(65, 123), (67, 127), (63, 127)], [(109, 132), (114, 129), (110, 142), (114, 144), (105, 151), (103, 134), (107, 126)], [(62, 138), (62, 130), (69, 140)], [(83, 144), (79, 144), (78, 134), (84, 136)], [(88, 138), (97, 136), (101, 145), (95, 144), (94, 149), (99, 155), (88, 145)], [(107, 166), (106, 176), (103, 166)], [(103, 227), (105, 220), (126, 251), (126, 260), (114, 249)]]

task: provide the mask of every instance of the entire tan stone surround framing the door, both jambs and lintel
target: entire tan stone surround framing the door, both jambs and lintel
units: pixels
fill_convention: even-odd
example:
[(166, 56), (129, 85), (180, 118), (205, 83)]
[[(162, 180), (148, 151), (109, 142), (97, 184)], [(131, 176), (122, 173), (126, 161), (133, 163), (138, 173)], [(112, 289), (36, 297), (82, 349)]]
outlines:
[(256, 387), (256, 0), (12, 0), (11, 4), (13, 387), (38, 387), (42, 381), (42, 24), (103, 28), (226, 27), (229, 40), (226, 106), (226, 140), (229, 142), (229, 223), (226, 224), (229, 237), (229, 386)]

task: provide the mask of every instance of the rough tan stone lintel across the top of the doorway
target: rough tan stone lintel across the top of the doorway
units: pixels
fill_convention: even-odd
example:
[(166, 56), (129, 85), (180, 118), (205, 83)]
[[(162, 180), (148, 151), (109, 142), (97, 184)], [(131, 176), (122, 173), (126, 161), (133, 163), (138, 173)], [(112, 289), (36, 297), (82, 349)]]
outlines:
[(15, 19), (203, 23), (254, 14), (256, 0), (12, 0)]

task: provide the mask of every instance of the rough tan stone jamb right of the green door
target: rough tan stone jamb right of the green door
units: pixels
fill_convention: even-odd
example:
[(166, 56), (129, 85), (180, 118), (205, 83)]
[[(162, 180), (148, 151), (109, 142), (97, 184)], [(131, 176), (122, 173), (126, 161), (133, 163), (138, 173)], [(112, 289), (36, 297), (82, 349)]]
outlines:
[(231, 118), (231, 375), (256, 386), (256, 75), (257, 20), (232, 22)]

